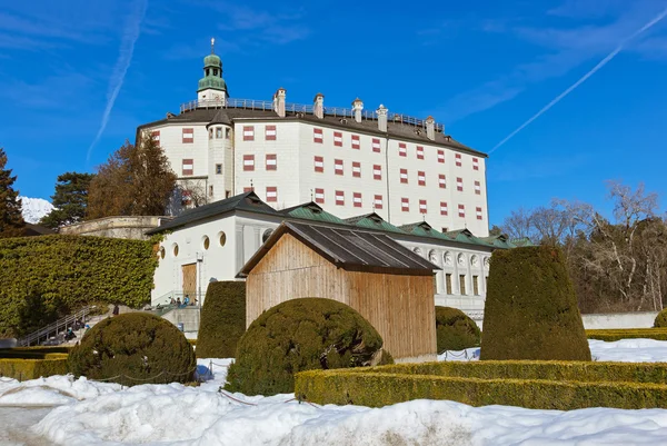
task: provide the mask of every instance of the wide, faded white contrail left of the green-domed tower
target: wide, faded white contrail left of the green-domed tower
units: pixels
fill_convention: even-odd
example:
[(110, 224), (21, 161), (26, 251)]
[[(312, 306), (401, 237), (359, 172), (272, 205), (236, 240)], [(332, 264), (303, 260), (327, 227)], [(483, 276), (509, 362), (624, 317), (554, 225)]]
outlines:
[(136, 9), (135, 11), (132, 11), (132, 14), (128, 19), (128, 23), (123, 31), (122, 40), (120, 42), (120, 54), (118, 54), (116, 66), (113, 67), (113, 73), (111, 75), (111, 79), (109, 81), (109, 91), (107, 92), (107, 107), (104, 108), (104, 112), (102, 113), (102, 122), (100, 123), (100, 129), (98, 130), (94, 139), (92, 140), (92, 143), (88, 148), (88, 153), (86, 155), (86, 162), (90, 161), (92, 149), (98, 143), (100, 137), (107, 128), (107, 123), (109, 122), (109, 115), (111, 115), (111, 110), (113, 109), (116, 98), (118, 97), (118, 93), (122, 88), (122, 82), (125, 81), (128, 68), (130, 67), (130, 62), (132, 61), (132, 54), (135, 53), (135, 44), (137, 43), (139, 34), (141, 33), (141, 22), (143, 21), (143, 16), (146, 16), (148, 0), (142, 0), (136, 4)]

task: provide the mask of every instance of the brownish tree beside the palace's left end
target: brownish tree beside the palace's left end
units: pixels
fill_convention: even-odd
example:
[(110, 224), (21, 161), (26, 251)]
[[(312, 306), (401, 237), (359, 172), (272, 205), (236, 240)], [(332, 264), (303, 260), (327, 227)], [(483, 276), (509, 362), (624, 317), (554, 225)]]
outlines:
[(90, 182), (87, 218), (165, 215), (177, 176), (149, 136), (128, 141), (98, 168)]

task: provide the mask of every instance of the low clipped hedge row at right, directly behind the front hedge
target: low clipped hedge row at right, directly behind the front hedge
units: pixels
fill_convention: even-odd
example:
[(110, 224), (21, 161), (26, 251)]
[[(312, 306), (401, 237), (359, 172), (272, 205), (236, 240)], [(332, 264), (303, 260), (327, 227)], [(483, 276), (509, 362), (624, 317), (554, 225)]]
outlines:
[(667, 383), (667, 363), (481, 360), (397, 364), (352, 373), (381, 373), (480, 379)]

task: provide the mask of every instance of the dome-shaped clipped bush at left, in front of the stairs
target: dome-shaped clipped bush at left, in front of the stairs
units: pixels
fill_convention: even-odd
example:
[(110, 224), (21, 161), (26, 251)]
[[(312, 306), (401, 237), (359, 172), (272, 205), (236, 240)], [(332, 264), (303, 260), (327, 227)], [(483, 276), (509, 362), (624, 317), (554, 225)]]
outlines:
[(128, 313), (94, 325), (69, 354), (76, 376), (123, 385), (187, 383), (195, 350), (171, 323), (147, 313)]

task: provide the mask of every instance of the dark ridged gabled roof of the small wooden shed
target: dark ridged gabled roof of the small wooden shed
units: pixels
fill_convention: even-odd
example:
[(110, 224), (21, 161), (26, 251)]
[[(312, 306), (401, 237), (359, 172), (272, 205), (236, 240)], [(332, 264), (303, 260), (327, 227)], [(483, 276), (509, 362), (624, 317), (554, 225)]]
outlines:
[(285, 221), (248, 260), (237, 277), (247, 277), (285, 234), (292, 235), (328, 261), (346, 270), (427, 276), (439, 269), (385, 234)]

